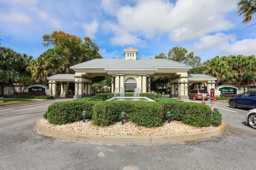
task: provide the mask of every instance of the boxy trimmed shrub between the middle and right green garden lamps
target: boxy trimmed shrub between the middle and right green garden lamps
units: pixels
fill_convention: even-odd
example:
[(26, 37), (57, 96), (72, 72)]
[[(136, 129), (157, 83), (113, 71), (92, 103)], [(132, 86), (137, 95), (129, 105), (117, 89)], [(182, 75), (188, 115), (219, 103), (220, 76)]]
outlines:
[(129, 113), (132, 122), (139, 126), (151, 128), (153, 126), (161, 126), (165, 121), (165, 113), (163, 104), (156, 102), (139, 102), (135, 103), (133, 113)]

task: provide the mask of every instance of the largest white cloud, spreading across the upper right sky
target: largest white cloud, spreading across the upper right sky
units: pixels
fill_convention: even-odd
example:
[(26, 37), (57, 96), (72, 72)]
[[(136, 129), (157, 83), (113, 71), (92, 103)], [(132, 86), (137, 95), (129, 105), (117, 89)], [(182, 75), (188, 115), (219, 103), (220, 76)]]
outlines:
[(234, 27), (225, 19), (226, 13), (236, 9), (234, 0), (178, 0), (175, 4), (164, 0), (140, 0), (134, 6), (108, 7), (110, 2), (102, 1), (102, 6), (105, 11), (117, 9), (111, 13), (117, 22), (109, 27), (114, 32), (113, 39), (122, 34), (142, 35), (147, 39), (167, 34), (170, 40), (184, 41)]

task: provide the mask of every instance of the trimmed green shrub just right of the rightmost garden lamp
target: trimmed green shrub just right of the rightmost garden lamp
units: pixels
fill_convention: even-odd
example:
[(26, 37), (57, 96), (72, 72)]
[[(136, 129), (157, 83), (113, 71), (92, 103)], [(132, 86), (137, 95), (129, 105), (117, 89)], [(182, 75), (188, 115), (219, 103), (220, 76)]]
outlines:
[(164, 111), (171, 112), (171, 120), (182, 121), (191, 126), (211, 125), (211, 109), (206, 105), (171, 101), (164, 103)]

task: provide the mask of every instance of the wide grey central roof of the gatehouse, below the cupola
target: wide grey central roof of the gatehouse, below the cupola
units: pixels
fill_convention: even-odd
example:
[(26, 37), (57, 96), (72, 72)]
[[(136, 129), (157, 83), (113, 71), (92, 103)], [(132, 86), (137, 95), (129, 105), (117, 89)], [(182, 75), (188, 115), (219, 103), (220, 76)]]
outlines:
[(125, 60), (124, 58), (97, 58), (81, 64), (71, 66), (73, 68), (104, 68), (104, 69), (154, 69), (156, 67), (190, 67), (186, 64), (174, 62), (164, 58), (150, 58), (137, 60)]

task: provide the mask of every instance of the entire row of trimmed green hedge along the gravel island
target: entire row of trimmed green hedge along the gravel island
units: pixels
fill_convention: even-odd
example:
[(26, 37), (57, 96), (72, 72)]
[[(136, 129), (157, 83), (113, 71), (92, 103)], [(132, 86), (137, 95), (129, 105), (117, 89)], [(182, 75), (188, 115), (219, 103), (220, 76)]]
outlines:
[(171, 112), (171, 120), (182, 121), (192, 126), (210, 126), (221, 123), (221, 114), (211, 114), (209, 106), (198, 103), (186, 103), (170, 100), (159, 102), (141, 101), (60, 101), (47, 109), (45, 117), (50, 123), (66, 124), (82, 119), (82, 112), (87, 111), (94, 124), (107, 126), (121, 120), (121, 112), (137, 125), (160, 126), (166, 120), (166, 112)]

